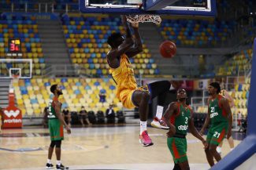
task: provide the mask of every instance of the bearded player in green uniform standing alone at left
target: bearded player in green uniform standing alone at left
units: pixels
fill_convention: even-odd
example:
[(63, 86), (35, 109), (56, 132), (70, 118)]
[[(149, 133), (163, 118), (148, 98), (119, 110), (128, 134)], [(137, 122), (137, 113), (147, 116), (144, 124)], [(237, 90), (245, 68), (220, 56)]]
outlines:
[(51, 157), (54, 152), (57, 157), (56, 169), (69, 169), (61, 164), (61, 140), (64, 139), (63, 125), (67, 130), (68, 134), (71, 133), (69, 126), (65, 123), (64, 118), (61, 115), (61, 103), (58, 101), (58, 97), (62, 95), (62, 91), (58, 85), (51, 85), (50, 92), (54, 94), (54, 99), (50, 99), (49, 102), (49, 130), (50, 130), (50, 146), (48, 150), (48, 159), (46, 164), (46, 169), (54, 168), (51, 163)]

